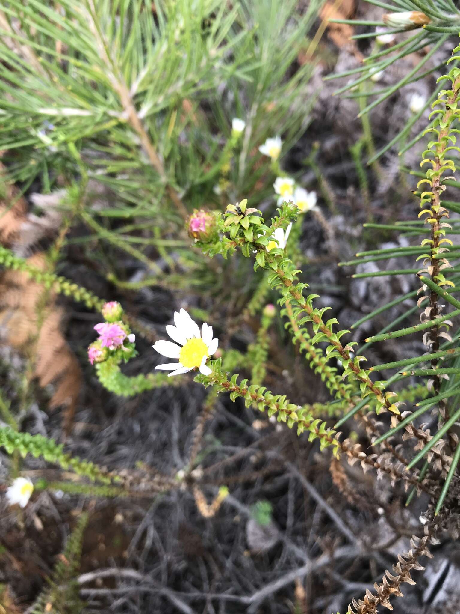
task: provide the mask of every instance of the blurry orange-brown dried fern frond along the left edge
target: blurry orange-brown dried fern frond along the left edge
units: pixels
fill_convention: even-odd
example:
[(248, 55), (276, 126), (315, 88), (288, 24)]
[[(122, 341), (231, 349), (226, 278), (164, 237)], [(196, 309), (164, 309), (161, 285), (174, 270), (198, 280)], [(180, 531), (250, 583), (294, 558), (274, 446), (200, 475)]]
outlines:
[[(0, 175), (2, 167), (0, 166)], [(36, 204), (44, 216), (28, 215), (24, 198), (13, 186), (6, 187), (7, 198), (0, 200), (0, 242), (15, 252), (30, 254), (44, 237), (55, 236), (61, 222), (56, 206), (62, 193), (38, 198)], [(3, 215), (2, 215), (3, 213)], [(47, 270), (43, 252), (36, 252), (27, 262)], [(0, 330), (5, 343), (25, 352), (34, 364), (34, 376), (40, 386), (53, 384), (50, 408), (65, 408), (64, 431), (72, 426), (79, 397), (82, 372), (78, 360), (62, 332), (64, 310), (56, 306), (56, 295), (31, 281), (21, 271), (5, 270), (0, 277)]]

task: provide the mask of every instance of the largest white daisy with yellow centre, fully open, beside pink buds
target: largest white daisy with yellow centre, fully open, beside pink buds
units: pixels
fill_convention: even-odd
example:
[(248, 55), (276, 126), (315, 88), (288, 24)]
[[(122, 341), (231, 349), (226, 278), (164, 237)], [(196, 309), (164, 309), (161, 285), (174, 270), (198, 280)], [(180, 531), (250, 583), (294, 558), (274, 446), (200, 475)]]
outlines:
[(174, 312), (174, 324), (175, 326), (168, 325), (166, 332), (176, 343), (156, 341), (152, 347), (162, 356), (177, 358), (179, 362), (168, 362), (155, 368), (172, 371), (168, 373), (169, 377), (187, 373), (196, 367), (199, 367), (203, 375), (211, 375), (212, 370), (206, 366), (206, 361), (215, 353), (219, 343), (218, 339), (212, 338), (212, 326), (204, 322), (200, 332), (199, 326), (185, 309)]

